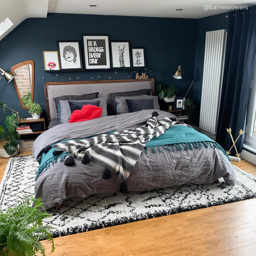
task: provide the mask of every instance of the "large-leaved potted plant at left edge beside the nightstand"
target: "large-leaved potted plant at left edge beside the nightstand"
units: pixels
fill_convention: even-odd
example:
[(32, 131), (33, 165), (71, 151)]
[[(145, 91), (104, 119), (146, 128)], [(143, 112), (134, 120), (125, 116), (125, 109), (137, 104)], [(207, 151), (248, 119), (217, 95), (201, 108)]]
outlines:
[[(0, 102), (0, 106), (3, 109), (4, 114), (6, 114), (6, 108), (9, 107), (6, 104)], [(12, 109), (11, 109), (12, 110)], [(6, 125), (5, 128), (0, 125), (0, 156), (3, 158), (11, 157), (17, 154), (17, 146), (19, 144), (18, 139), (20, 136), (16, 131), (19, 120), (16, 114), (6, 115)]]

